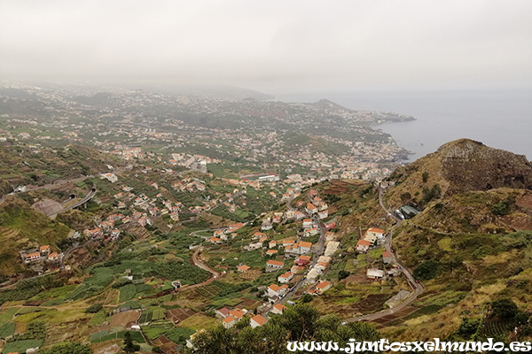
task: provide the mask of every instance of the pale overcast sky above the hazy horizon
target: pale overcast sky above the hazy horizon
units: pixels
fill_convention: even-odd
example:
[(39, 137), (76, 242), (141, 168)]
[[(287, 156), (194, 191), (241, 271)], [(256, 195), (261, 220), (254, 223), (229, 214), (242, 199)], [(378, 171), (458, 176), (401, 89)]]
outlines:
[(530, 89), (530, 0), (0, 0), (3, 78)]

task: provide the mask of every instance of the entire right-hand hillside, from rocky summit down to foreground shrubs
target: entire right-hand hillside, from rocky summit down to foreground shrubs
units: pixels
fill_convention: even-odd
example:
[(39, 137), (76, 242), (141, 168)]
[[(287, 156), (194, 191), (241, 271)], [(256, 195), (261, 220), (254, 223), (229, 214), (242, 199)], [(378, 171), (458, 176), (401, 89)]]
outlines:
[(390, 208), (411, 204), (421, 210), (396, 227), (394, 248), (425, 293), (414, 303), (417, 312), (383, 332), (456, 337), (467, 317), (477, 335), (507, 338), (516, 314), (501, 318), (491, 306), (514, 303), (523, 318), (532, 311), (532, 165), (523, 156), (461, 139), (387, 180)]

